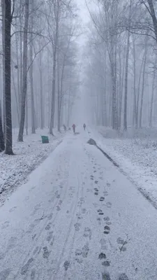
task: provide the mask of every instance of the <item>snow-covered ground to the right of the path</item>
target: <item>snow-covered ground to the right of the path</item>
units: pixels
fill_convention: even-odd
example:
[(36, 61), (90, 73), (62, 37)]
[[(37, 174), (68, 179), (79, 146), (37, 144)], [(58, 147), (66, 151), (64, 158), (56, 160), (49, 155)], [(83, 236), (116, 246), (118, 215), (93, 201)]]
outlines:
[(97, 127), (93, 132), (98, 146), (157, 207), (157, 130), (144, 128), (117, 133)]

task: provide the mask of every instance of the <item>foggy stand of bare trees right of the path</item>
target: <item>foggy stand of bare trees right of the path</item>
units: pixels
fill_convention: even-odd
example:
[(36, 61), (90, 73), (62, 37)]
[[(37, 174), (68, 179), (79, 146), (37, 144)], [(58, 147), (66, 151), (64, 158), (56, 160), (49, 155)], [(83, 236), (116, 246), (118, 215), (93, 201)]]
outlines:
[(84, 52), (92, 122), (116, 130), (156, 125), (157, 2), (93, 3)]

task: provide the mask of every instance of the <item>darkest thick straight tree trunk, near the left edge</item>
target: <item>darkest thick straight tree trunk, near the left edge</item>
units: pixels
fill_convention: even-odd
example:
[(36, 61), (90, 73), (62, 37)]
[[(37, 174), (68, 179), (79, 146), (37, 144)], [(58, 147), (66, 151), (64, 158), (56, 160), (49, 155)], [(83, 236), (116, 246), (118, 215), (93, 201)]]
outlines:
[(12, 149), (12, 115), (11, 115), (11, 1), (5, 0), (5, 110), (6, 110), (6, 149), (5, 153), (13, 155)]

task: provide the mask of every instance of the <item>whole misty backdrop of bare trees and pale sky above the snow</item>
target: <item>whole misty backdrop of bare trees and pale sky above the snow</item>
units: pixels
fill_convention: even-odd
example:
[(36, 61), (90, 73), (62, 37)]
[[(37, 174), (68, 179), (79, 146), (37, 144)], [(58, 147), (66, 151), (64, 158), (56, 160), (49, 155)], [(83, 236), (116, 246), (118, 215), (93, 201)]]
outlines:
[(5, 14), (1, 1), (6, 153), (12, 128), (23, 141), (24, 131), (53, 134), (74, 122), (156, 125), (155, 10), (154, 1), (21, 0), (8, 1)]

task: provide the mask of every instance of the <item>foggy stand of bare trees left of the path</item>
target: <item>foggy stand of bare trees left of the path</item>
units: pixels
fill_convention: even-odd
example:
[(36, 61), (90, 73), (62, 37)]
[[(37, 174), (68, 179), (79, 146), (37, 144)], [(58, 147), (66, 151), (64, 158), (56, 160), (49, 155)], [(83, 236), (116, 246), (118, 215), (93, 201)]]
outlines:
[(0, 151), (47, 127), (69, 125), (79, 85), (77, 7), (71, 0), (1, 0)]

